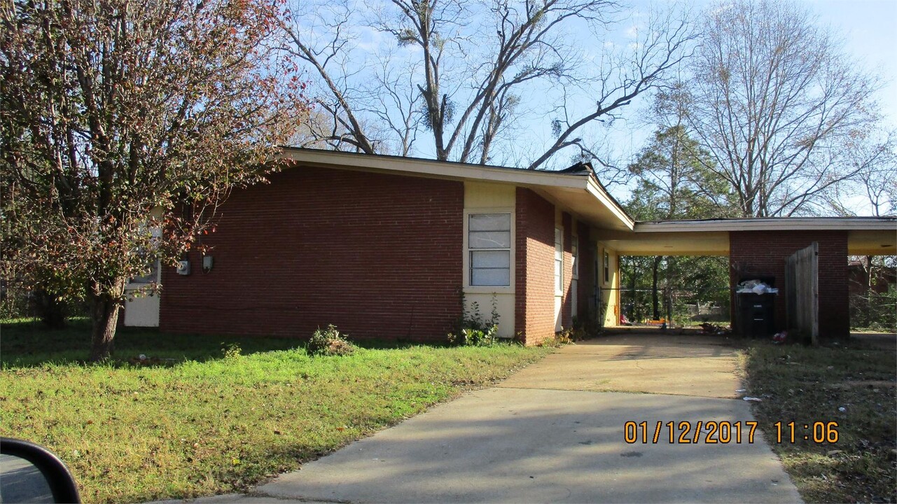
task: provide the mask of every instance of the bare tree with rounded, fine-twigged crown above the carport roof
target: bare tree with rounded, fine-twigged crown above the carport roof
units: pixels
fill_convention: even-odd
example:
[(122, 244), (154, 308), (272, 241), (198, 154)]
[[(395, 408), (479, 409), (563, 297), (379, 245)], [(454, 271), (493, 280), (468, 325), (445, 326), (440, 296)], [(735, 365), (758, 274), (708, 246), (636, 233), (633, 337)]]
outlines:
[(689, 125), (743, 216), (809, 212), (857, 174), (843, 145), (875, 119), (877, 83), (802, 6), (714, 5), (694, 74)]

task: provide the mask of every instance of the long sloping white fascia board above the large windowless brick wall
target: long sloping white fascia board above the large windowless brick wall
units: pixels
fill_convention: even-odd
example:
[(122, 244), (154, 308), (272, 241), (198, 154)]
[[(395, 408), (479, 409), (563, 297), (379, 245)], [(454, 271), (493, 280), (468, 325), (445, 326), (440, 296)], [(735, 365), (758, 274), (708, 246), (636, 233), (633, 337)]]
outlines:
[(420, 160), (394, 156), (361, 155), (337, 151), (285, 149), (281, 159), (327, 165), (333, 168), (377, 169), (409, 175), (507, 182), (517, 185), (582, 188), (586, 177), (550, 171), (509, 169), (487, 165)]

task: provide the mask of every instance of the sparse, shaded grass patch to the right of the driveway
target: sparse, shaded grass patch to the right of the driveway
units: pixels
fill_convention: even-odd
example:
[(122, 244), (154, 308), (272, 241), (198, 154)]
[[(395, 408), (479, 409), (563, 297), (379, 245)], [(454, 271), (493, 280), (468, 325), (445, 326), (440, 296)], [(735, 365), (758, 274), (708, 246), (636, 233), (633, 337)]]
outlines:
[[(894, 502), (897, 356), (860, 343), (810, 348), (755, 343), (745, 354), (750, 395), (766, 439), (806, 502)], [(843, 411), (840, 410), (843, 408)], [(795, 421), (796, 442), (777, 444), (774, 423)], [(836, 443), (803, 425), (837, 421)], [(803, 439), (807, 434), (811, 439)]]

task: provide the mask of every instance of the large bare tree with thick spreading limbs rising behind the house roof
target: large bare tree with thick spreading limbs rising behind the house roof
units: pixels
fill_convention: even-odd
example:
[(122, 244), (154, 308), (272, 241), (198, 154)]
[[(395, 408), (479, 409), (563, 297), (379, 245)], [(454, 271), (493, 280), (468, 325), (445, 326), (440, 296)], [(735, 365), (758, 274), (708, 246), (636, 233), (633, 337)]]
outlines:
[[(318, 89), (325, 91), (318, 102), (341, 130), (332, 141), (379, 152), (371, 131), (374, 123), (385, 123), (381, 131), (403, 147), (400, 139), (426, 129), (427, 147), (436, 159), (485, 163), (501, 150), (502, 133), (519, 111), (542, 109), (554, 135), (526, 161), (529, 169), (544, 166), (568, 147), (595, 157), (581, 136), (585, 126), (613, 118), (657, 85), (684, 58), (692, 38), (683, 20), (654, 16), (626, 57), (604, 54), (592, 64), (583, 58), (585, 41), (572, 33), (597, 41), (620, 15), (621, 6), (613, 0), (392, 0), (374, 8), (343, 4), (314, 11), (294, 13), (284, 22), (284, 48), (317, 74)], [(361, 37), (370, 33), (387, 35), (380, 43), (404, 51), (406, 61), (413, 62), (406, 65), (409, 80), (379, 80), (388, 100), (370, 100), (359, 92), (361, 69), (383, 66), (382, 57), (373, 55), (380, 61), (370, 63), (365, 60), (370, 51), (357, 50)], [(524, 99), (527, 93), (557, 88), (564, 90), (559, 103), (547, 102), (544, 92)], [(568, 106), (568, 89), (590, 105)], [(416, 103), (421, 103), (420, 120), (408, 120), (413, 115), (405, 106)], [(371, 120), (366, 125), (362, 117)], [(397, 117), (405, 120), (396, 122)]]

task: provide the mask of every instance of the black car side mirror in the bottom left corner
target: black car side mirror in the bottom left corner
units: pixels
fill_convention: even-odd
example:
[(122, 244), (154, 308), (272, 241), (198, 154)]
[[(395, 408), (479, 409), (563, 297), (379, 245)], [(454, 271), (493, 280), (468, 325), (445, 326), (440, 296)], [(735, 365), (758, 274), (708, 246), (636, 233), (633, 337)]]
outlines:
[(0, 502), (81, 504), (72, 473), (53, 452), (22, 439), (0, 438)]

